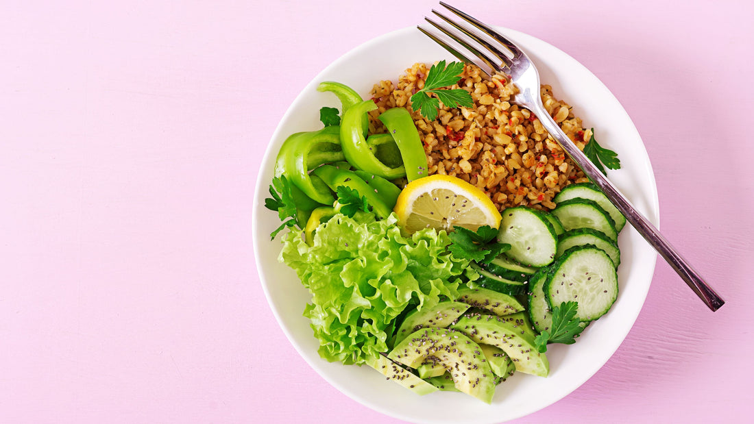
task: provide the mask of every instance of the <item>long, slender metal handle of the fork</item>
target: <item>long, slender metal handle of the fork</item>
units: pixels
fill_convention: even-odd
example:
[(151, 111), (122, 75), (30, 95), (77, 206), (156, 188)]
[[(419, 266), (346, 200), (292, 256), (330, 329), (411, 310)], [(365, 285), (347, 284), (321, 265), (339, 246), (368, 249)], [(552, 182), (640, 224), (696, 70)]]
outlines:
[(713, 311), (722, 307), (722, 305), (725, 304), (725, 300), (722, 300), (722, 297), (720, 297), (713, 288), (707, 285), (699, 273), (697, 273), (697, 271), (694, 270), (694, 268), (692, 268), (678, 252), (676, 252), (676, 249), (670, 245), (667, 239), (665, 239), (660, 233), (660, 230), (657, 230), (657, 227), (654, 227), (654, 225), (651, 224), (641, 212), (636, 210), (626, 197), (618, 191), (618, 188), (615, 188), (615, 185), (612, 185), (610, 180), (605, 178), (605, 175), (602, 175), (602, 172), (594, 166), (592, 161), (587, 158), (587, 155), (579, 150), (575, 143), (566, 136), (566, 133), (563, 133), (562, 130), (560, 130), (558, 124), (556, 124), (552, 118), (547, 119), (550, 117), (550, 114), (541, 107), (535, 107), (534, 109), (538, 109), (535, 111), (537, 117), (544, 117), (544, 119), (540, 119), (540, 121), (542, 126), (548, 133), (550, 133), (550, 136), (553, 136), (553, 138), (556, 139), (563, 150), (565, 150), (574, 162), (584, 170), (584, 173), (600, 189), (602, 189), (605, 196), (607, 196), (615, 207), (623, 213), (626, 220), (629, 221), (630, 224), (636, 228), (636, 231), (647, 240), (652, 248), (654, 248), (654, 250), (657, 251), (657, 253), (659, 253), (668, 264), (670, 264), (670, 267), (681, 276), (688, 287), (690, 287), (691, 290), (703, 300), (704, 304)]

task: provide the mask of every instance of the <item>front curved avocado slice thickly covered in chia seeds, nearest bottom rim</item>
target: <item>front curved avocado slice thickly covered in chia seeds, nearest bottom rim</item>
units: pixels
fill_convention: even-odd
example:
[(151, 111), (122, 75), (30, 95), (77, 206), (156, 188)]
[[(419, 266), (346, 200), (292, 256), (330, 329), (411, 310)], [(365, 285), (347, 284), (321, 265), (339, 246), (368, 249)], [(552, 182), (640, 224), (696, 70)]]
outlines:
[(388, 358), (411, 368), (427, 362), (428, 358), (436, 358), (450, 371), (456, 389), (487, 404), (492, 402), (495, 374), (480, 346), (460, 331), (421, 328), (398, 343)]

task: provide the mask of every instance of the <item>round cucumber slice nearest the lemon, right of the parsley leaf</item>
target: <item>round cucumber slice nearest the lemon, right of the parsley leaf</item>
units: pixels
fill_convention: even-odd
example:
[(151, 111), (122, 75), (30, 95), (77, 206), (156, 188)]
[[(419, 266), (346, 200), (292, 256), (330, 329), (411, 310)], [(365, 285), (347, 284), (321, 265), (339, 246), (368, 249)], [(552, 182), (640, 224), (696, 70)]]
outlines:
[(531, 267), (544, 267), (555, 259), (557, 234), (545, 212), (517, 206), (502, 213), (498, 242), (510, 245), (508, 258)]

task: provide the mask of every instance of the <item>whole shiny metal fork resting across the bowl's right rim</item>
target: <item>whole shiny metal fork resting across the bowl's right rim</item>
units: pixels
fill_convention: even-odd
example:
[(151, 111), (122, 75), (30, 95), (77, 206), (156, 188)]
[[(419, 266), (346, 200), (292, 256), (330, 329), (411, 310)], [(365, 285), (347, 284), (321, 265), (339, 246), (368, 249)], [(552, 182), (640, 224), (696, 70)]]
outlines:
[[(560, 130), (550, 114), (547, 113), (542, 105), (540, 95), (539, 73), (535, 69), (534, 63), (526, 56), (516, 44), (504, 36), (495, 32), (490, 26), (481, 23), (474, 17), (470, 17), (457, 8), (446, 3), (440, 2), (440, 5), (447, 8), (464, 22), (455, 22), (448, 17), (443, 16), (440, 12), (433, 10), (443, 20), (443, 23), (437, 23), (434, 20), (425, 18), (428, 23), (439, 29), (447, 37), (455, 41), (465, 50), (477, 56), (486, 66), (491, 69), (510, 76), (510, 81), (516, 84), (519, 93), (513, 98), (513, 103), (523, 106), (532, 111), (540, 120), (542, 126), (550, 133), (564, 151), (574, 160), (578, 166), (584, 170), (584, 173), (600, 188), (602, 192), (615, 204), (615, 206), (625, 215), (626, 220), (644, 236), (647, 242), (657, 251), (664, 259), (676, 270), (676, 273), (688, 284), (688, 286), (700, 297), (710, 310), (718, 310), (725, 304), (725, 301), (707, 285), (701, 276), (689, 265), (681, 255), (670, 246), (667, 239), (652, 225), (641, 212), (637, 211), (631, 203), (615, 188), (612, 183), (602, 175), (602, 172), (579, 150), (574, 142)], [(465, 63), (474, 63), (474, 60), (464, 56), (463, 53), (451, 47), (442, 38), (437, 37), (432, 32), (418, 27), (432, 40), (445, 47), (453, 56), (458, 57)], [(483, 53), (479, 48), (483, 47), (488, 50), (490, 55)], [(486, 72), (483, 69), (483, 72)]]

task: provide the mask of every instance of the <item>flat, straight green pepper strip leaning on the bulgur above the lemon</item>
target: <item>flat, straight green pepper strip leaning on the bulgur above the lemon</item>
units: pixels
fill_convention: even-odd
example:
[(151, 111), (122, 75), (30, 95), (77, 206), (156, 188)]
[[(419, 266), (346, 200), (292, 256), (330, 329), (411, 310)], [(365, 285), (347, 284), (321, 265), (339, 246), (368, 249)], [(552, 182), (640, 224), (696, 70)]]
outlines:
[(406, 179), (409, 182), (427, 176), (427, 155), (419, 138), (418, 130), (409, 111), (404, 108), (391, 108), (379, 115), (382, 124), (388, 127), (403, 158)]

